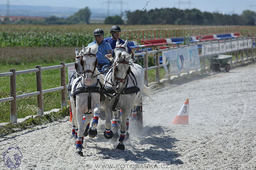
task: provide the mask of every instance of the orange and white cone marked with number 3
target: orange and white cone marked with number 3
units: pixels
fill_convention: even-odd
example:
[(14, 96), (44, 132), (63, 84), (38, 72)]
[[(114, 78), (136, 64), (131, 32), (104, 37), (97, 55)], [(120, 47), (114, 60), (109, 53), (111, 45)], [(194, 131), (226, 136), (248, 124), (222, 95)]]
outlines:
[(189, 125), (189, 99), (187, 98), (173, 121), (174, 125)]

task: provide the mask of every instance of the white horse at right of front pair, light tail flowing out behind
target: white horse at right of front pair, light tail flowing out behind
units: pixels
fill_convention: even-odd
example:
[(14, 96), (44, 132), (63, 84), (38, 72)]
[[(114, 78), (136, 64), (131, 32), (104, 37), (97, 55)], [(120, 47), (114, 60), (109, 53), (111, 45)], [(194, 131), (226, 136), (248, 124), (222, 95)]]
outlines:
[[(151, 88), (147, 88), (144, 86), (144, 70), (138, 65), (134, 64), (131, 60), (131, 55), (127, 53), (127, 41), (125, 44), (119, 45), (119, 41), (117, 41), (116, 48), (114, 49), (115, 60), (113, 63), (113, 69), (110, 70), (105, 77), (105, 89), (111, 94), (111, 91), (114, 91), (112, 97), (107, 97), (105, 99), (106, 103), (106, 131), (104, 136), (109, 139), (111, 134), (113, 133), (113, 138), (119, 138), (119, 144), (117, 145), (117, 149), (125, 150), (125, 146), (123, 142), (125, 140), (125, 136), (127, 134), (127, 118), (130, 115), (131, 109), (134, 108), (134, 105), (139, 104), (140, 98), (143, 94), (143, 90), (145, 90), (145, 94), (149, 97), (152, 92)], [(124, 49), (125, 51), (120, 49)], [(119, 52), (118, 52), (119, 51)], [(121, 120), (121, 128), (120, 128), (120, 137), (117, 133), (117, 117), (118, 111), (117, 109), (122, 109), (122, 120)], [(114, 118), (111, 125), (111, 114), (112, 111), (114, 113)], [(112, 131), (110, 130), (112, 129)]]

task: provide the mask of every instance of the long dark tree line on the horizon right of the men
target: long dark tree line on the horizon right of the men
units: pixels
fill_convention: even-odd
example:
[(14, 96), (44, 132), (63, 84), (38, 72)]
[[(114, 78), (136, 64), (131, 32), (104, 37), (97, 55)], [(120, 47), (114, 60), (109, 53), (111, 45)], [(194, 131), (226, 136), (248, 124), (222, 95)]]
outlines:
[[(255, 25), (254, 11), (245, 10), (241, 15), (220, 14), (218, 12), (201, 12), (198, 9), (180, 10), (177, 8), (161, 8), (144, 10), (139, 13), (126, 11), (130, 24), (175, 24), (175, 25)], [(133, 19), (134, 18), (134, 19)]]

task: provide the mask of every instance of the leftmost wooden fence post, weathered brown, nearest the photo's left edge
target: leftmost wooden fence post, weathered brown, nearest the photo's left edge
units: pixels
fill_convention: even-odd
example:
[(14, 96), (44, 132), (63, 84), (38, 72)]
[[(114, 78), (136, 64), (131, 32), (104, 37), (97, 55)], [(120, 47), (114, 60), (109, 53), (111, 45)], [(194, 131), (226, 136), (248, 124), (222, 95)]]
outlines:
[(10, 101), (11, 123), (17, 123), (16, 69), (10, 69), (10, 72), (13, 72), (10, 76), (10, 97), (14, 97), (14, 100)]

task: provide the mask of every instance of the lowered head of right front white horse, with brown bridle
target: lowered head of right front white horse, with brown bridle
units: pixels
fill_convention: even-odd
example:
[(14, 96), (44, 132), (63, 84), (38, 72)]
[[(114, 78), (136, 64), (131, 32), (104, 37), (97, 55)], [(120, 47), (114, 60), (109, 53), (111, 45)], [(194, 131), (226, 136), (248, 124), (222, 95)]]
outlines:
[(123, 90), (123, 86), (127, 82), (127, 76), (131, 72), (130, 62), (131, 54), (127, 52), (119, 53), (117, 58), (114, 61), (113, 69), (113, 80), (114, 80), (114, 89), (117, 93), (120, 93)]

